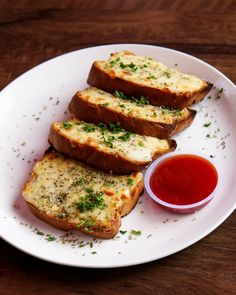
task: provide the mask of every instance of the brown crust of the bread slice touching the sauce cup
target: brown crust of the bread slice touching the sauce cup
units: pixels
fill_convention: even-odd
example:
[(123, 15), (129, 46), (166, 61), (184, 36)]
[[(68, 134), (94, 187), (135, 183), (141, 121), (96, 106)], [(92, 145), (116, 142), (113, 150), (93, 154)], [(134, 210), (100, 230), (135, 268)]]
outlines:
[[(131, 172), (141, 171), (151, 162), (130, 161), (118, 154), (109, 154), (86, 143), (79, 143), (61, 134), (60, 130), (57, 130), (53, 124), (51, 125), (48, 141), (56, 151), (76, 160), (81, 160), (92, 167), (114, 174), (129, 174)], [(168, 151), (175, 150), (177, 146), (175, 140), (167, 139), (167, 141), (169, 144)], [(164, 153), (165, 152), (156, 151), (152, 157), (152, 161)]]

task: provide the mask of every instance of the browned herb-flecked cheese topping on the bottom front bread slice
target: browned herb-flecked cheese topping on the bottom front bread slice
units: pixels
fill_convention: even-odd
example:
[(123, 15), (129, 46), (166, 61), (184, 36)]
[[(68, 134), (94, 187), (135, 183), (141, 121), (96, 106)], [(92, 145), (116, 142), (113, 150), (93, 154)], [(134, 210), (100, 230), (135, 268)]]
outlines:
[[(73, 223), (94, 222), (104, 226), (116, 210), (128, 202), (141, 173), (114, 176), (88, 167), (60, 154), (47, 154), (33, 168), (33, 178), (23, 190), (25, 200), (47, 215)], [(76, 204), (82, 202), (88, 190), (102, 193), (104, 208), (80, 212)]]

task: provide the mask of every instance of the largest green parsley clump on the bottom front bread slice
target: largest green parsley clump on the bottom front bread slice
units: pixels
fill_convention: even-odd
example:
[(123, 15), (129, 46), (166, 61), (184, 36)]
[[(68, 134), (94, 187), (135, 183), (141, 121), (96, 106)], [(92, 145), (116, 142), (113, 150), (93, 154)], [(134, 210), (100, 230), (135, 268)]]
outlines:
[(94, 208), (103, 210), (107, 207), (102, 192), (94, 192), (93, 189), (86, 189), (86, 192), (87, 195), (82, 197), (80, 202), (74, 204), (81, 213), (92, 211)]

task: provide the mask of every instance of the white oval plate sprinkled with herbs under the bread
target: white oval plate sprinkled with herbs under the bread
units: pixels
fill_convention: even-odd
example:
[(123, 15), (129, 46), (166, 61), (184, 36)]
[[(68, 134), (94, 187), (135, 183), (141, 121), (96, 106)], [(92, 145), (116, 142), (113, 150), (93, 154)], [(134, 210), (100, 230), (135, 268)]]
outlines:
[[(48, 147), (50, 123), (64, 112), (72, 95), (86, 87), (94, 60), (111, 52), (131, 50), (170, 67), (213, 82), (211, 98), (195, 106), (193, 125), (176, 136), (178, 149), (212, 155), (219, 167), (220, 187), (213, 201), (190, 215), (175, 215), (143, 196), (122, 220), (113, 240), (56, 230), (35, 218), (21, 198), (21, 189), (35, 159)], [(223, 92), (220, 91), (223, 89)], [(0, 94), (0, 234), (18, 249), (47, 261), (79, 267), (119, 267), (156, 260), (180, 251), (218, 227), (236, 207), (236, 87), (222, 73), (190, 55), (155, 46), (121, 44), (68, 53), (20, 76)], [(204, 124), (210, 126), (204, 127)], [(134, 236), (130, 231), (141, 230)]]

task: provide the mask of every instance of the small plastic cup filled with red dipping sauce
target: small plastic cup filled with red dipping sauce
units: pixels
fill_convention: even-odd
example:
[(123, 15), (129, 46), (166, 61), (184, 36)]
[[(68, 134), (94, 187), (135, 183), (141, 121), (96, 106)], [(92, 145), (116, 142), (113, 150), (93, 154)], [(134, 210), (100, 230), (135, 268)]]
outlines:
[(218, 172), (210, 157), (171, 152), (148, 167), (144, 185), (147, 194), (163, 208), (192, 213), (215, 196)]

